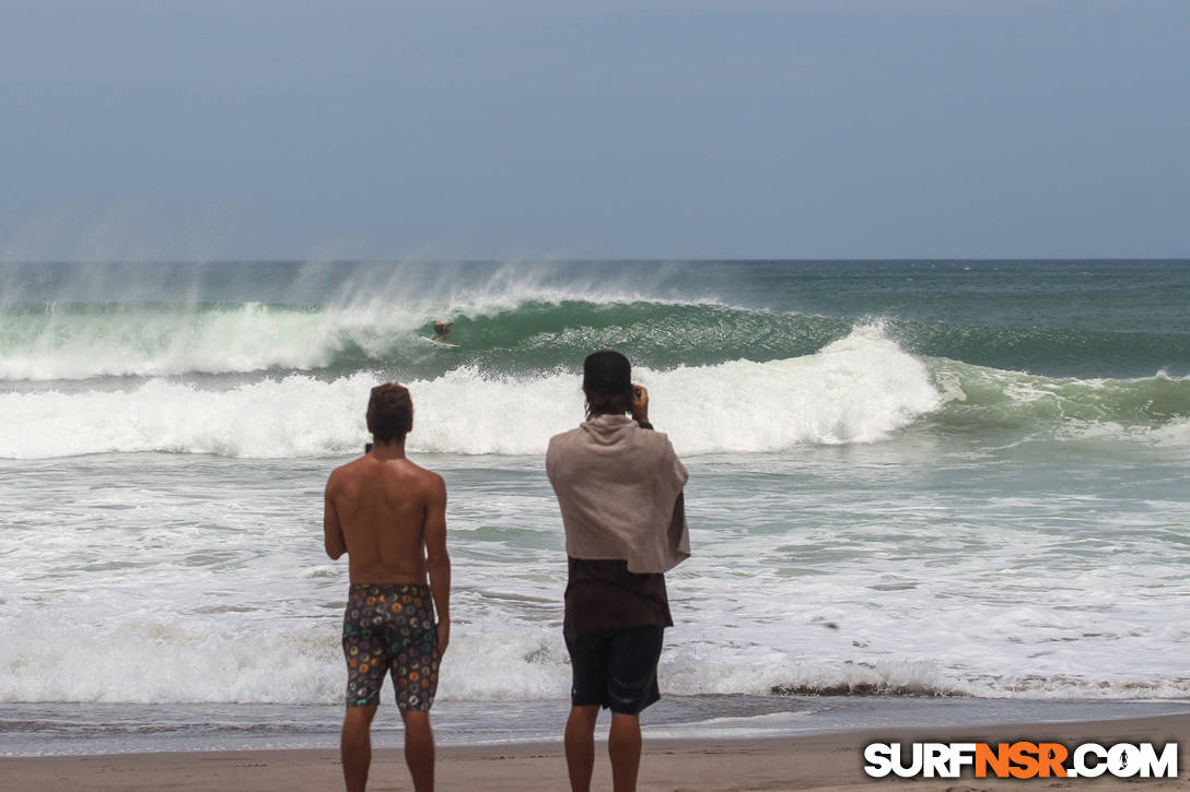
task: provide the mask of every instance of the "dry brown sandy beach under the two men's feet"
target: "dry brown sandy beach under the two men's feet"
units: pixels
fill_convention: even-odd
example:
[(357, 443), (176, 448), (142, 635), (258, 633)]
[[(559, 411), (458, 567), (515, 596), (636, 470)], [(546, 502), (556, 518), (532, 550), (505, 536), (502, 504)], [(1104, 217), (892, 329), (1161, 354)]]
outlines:
[[(1085, 741), (1179, 742), (1177, 779), (1034, 779), (1029, 788), (1070, 787), (1190, 790), (1186, 743), (1190, 715), (1079, 723), (1016, 724), (972, 729), (873, 730), (763, 740), (649, 740), (639, 788), (647, 792), (720, 790), (1019, 790), (1019, 780), (873, 780), (862, 768), (863, 746), (872, 741)], [(600, 749), (595, 787), (609, 788)], [(333, 790), (340, 786), (333, 749), (113, 754), (104, 756), (0, 760), (6, 790)], [(439, 749), (438, 787), (444, 790), (559, 790), (565, 787), (560, 743), (456, 746)], [(401, 752), (378, 749), (372, 790), (412, 790)]]

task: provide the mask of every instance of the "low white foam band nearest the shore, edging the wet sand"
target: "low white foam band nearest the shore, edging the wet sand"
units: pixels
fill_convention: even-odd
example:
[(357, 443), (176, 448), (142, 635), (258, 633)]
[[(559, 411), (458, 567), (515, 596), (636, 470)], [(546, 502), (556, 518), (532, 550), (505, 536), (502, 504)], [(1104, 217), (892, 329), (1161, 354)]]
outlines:
[[(123, 614), (63, 631), (0, 628), (0, 702), (334, 704), (344, 670), (337, 620), (237, 621)], [(98, 614), (96, 614), (98, 617)], [(296, 623), (294, 623), (296, 621)], [(63, 623), (69, 624), (69, 621)], [(788, 628), (797, 629), (795, 626)], [(804, 629), (804, 628), (803, 628)], [(440, 700), (543, 700), (564, 696), (570, 665), (560, 630), (540, 626), (456, 624)], [(791, 637), (791, 635), (790, 635)], [(1185, 698), (1190, 679), (1121, 674), (970, 674), (931, 660), (860, 662), (822, 656), (798, 630), (803, 652), (691, 641), (670, 630), (659, 665), (666, 694), (862, 693), (1003, 698)], [(784, 642), (782, 639), (770, 639)], [(1000, 658), (1000, 662), (1009, 660)], [(1116, 677), (1113, 679), (1113, 677)], [(390, 691), (384, 693), (386, 700)]]

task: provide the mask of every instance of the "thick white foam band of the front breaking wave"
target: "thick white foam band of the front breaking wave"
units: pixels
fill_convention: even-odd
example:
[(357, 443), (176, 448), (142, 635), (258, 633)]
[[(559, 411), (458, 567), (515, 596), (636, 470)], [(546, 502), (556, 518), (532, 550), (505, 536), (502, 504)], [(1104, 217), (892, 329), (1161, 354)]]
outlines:
[[(802, 358), (635, 373), (652, 395), (650, 417), (685, 454), (872, 442), (939, 404), (925, 365), (869, 328)], [(362, 413), (376, 381), (294, 375), (226, 390), (150, 381), (127, 390), (8, 392), (0, 395), (0, 423), (19, 429), (0, 438), (0, 457), (349, 453), (367, 438)], [(407, 384), (416, 406), (413, 451), (540, 454), (582, 411), (572, 375), (459, 367)]]

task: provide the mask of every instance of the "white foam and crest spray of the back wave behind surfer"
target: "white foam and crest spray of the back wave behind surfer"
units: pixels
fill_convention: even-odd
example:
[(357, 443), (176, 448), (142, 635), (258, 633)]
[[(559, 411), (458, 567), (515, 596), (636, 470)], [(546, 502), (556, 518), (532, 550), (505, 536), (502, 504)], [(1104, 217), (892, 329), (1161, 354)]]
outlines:
[[(328, 304), (308, 307), (115, 303), (80, 313), (75, 303), (50, 303), (44, 313), (0, 313), (0, 381), (312, 370), (331, 365), (351, 347), (370, 358), (409, 347), (437, 320), (490, 318), (530, 303), (693, 304), (631, 290), (595, 294), (501, 278), (438, 298), (392, 296), (402, 290), (377, 297), (374, 291), (344, 290)], [(719, 303), (708, 298), (696, 304)]]

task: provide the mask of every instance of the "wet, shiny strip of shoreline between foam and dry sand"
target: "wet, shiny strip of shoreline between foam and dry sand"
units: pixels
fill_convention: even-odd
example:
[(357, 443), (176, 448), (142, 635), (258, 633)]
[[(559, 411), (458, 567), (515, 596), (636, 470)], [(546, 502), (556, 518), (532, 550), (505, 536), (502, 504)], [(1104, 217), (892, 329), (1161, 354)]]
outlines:
[[(565, 699), (434, 706), (439, 747), (549, 744)], [(1190, 715), (1190, 700), (987, 699), (903, 696), (664, 696), (641, 718), (646, 740), (765, 740), (890, 729), (994, 728)], [(338, 746), (342, 704), (0, 704), (0, 756), (99, 756)], [(606, 738), (608, 719), (596, 727)], [(377, 748), (400, 748), (394, 706), (372, 723)]]

